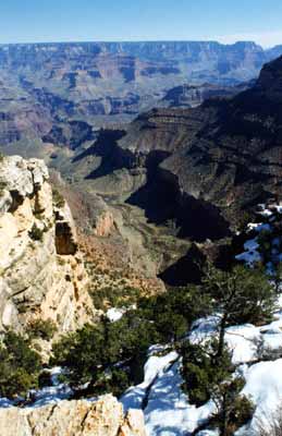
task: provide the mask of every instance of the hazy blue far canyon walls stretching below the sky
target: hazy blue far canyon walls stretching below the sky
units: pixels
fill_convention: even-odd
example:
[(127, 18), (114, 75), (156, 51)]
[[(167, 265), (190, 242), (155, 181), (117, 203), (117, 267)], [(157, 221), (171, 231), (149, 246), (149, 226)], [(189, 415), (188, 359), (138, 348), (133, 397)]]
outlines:
[[(77, 147), (93, 140), (93, 130), (163, 105), (175, 86), (210, 84), (205, 98), (233, 94), (230, 86), (255, 78), (281, 53), (281, 46), (263, 50), (254, 43), (2, 45), (0, 142), (26, 147), (40, 140)], [(189, 99), (195, 104), (195, 96)]]

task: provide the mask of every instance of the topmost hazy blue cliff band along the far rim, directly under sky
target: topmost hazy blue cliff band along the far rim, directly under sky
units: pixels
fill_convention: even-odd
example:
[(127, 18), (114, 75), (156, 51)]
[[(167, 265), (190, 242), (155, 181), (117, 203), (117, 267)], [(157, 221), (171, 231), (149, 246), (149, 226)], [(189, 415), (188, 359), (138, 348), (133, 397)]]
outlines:
[[(275, 53), (279, 47), (275, 48)], [(30, 72), (46, 70), (49, 78), (61, 77), (71, 90), (86, 80), (125, 82), (161, 74), (188, 73), (189, 77), (249, 78), (271, 59), (255, 43), (222, 45), (217, 41), (140, 41), (26, 44), (0, 47), (1, 65)], [(71, 68), (70, 68), (71, 66)], [(82, 72), (85, 72), (84, 74)], [(48, 75), (46, 74), (48, 80)]]

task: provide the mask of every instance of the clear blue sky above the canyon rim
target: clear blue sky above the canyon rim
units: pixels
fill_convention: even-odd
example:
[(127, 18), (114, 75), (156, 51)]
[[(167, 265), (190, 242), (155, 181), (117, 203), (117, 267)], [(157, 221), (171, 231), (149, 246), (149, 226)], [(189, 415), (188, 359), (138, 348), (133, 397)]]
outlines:
[(282, 44), (282, 0), (0, 0), (0, 44), (172, 39)]

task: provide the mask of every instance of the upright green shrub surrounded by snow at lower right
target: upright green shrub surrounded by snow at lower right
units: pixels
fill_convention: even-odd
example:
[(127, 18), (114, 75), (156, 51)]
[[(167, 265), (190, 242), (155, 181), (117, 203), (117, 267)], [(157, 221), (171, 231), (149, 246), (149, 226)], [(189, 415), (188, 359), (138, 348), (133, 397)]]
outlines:
[(220, 436), (232, 436), (253, 416), (254, 405), (241, 395), (245, 380), (234, 376), (234, 365), (226, 347), (222, 355), (217, 354), (217, 340), (203, 344), (182, 347), (183, 388), (189, 401), (197, 407), (210, 399), (216, 403), (217, 413), (210, 424), (220, 431)]

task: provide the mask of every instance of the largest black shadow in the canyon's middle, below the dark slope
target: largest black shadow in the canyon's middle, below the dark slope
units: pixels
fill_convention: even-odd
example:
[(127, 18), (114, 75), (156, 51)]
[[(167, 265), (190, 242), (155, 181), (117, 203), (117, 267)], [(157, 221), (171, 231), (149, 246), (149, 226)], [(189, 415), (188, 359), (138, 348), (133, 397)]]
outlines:
[(168, 154), (155, 152), (147, 162), (148, 179), (127, 199), (145, 210), (149, 221), (165, 225), (172, 221), (179, 238), (203, 242), (219, 240), (230, 234), (229, 222), (212, 204), (182, 193), (177, 178), (158, 165)]

